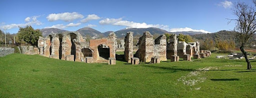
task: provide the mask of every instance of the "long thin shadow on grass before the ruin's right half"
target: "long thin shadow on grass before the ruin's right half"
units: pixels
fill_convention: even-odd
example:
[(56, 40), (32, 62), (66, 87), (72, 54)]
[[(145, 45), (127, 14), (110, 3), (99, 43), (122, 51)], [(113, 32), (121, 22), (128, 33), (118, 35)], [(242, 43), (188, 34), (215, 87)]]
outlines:
[(173, 72), (177, 71), (195, 71), (194, 69), (181, 69), (181, 68), (172, 68), (172, 67), (160, 67), (160, 66), (148, 66), (148, 65), (140, 65), (142, 67), (154, 68), (154, 69), (163, 69), (163, 70), (170, 70)]

